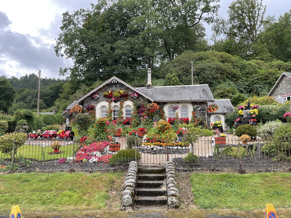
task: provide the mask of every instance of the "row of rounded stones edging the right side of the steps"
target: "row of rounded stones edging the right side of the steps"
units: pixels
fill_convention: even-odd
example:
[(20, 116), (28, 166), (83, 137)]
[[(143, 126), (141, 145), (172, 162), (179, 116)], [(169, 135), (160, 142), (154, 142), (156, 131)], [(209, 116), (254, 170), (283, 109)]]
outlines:
[(172, 160), (166, 162), (166, 187), (168, 208), (178, 208), (180, 206), (179, 190), (177, 188), (175, 176), (175, 164)]

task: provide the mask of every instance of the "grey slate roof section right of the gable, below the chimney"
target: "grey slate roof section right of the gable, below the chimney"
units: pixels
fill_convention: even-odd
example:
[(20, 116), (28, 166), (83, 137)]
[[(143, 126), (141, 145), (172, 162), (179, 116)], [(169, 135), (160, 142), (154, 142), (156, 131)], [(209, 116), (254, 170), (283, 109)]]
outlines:
[(152, 89), (139, 87), (136, 89), (154, 99), (155, 102), (214, 101), (208, 84), (155, 86)]

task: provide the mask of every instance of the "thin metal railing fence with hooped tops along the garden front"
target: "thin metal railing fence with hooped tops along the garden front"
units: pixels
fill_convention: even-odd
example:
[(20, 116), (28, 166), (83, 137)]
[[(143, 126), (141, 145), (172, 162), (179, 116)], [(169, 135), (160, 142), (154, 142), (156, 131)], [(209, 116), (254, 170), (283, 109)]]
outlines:
[[(164, 166), (172, 160), (181, 168), (284, 170), (290, 168), (288, 138), (240, 141), (236, 136), (224, 138), (200, 137), (195, 143), (143, 141), (135, 137), (119, 137), (120, 148), (113, 148), (108, 139), (81, 144), (75, 140), (58, 140), (55, 151), (53, 139), (29, 139), (19, 146), (15, 142), (0, 144), (0, 170), (61, 170), (110, 169), (136, 160), (139, 165)], [(119, 151), (117, 151), (120, 149)], [(115, 151), (116, 150), (116, 151)], [(2, 168), (1, 168), (2, 167)]]

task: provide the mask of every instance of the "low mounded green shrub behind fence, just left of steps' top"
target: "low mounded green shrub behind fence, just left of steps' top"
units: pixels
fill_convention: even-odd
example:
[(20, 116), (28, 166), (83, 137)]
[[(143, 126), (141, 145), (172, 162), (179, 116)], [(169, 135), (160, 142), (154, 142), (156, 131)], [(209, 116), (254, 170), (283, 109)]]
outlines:
[(118, 151), (117, 154), (113, 154), (112, 157), (109, 160), (109, 164), (127, 164), (131, 161), (135, 161), (135, 154), (136, 154), (136, 161), (138, 161), (141, 158), (141, 154), (138, 150), (135, 149), (125, 149)]

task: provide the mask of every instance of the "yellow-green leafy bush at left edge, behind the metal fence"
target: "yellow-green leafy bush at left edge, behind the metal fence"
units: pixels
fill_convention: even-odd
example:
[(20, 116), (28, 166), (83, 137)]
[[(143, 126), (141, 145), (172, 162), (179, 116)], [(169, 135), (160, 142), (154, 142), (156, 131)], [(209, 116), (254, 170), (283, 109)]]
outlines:
[(23, 145), (26, 141), (27, 134), (22, 132), (6, 133), (0, 137), (0, 151), (5, 154), (13, 156), (13, 142), (15, 140), (14, 150)]

